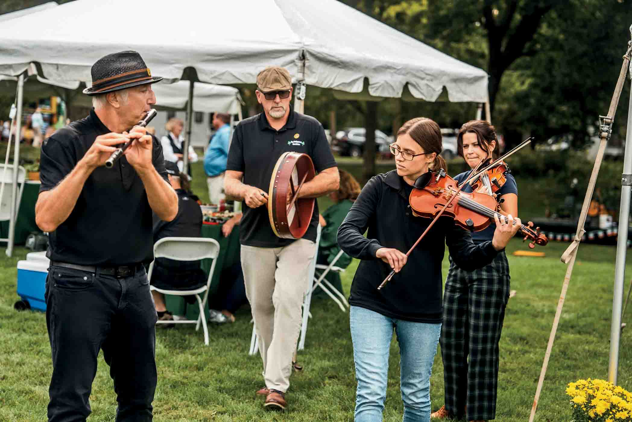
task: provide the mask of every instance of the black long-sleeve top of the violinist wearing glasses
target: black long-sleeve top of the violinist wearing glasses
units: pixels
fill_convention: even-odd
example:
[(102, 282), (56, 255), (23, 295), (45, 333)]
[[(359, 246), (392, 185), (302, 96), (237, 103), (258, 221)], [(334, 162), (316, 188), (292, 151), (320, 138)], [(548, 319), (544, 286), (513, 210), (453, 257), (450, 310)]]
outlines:
[(389, 318), (439, 323), (444, 244), (464, 270), (484, 267), (497, 251), (491, 241), (473, 244), (470, 232), (456, 226), (453, 219), (440, 217), (408, 256), (401, 271), (382, 290), (377, 290), (391, 267), (375, 258), (375, 252), (386, 247), (406, 253), (432, 221), (413, 216), (408, 203), (412, 189), (395, 170), (378, 174), (364, 186), (339, 227), (341, 249), (362, 260), (353, 277), (349, 304)]

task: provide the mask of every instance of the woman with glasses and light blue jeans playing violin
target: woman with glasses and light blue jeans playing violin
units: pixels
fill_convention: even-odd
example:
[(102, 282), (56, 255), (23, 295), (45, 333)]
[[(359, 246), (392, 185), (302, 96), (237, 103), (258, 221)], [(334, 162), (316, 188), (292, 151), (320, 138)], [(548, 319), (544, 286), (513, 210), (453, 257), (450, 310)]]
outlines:
[[(431, 219), (415, 217), (409, 196), (429, 169), (445, 169), (439, 125), (427, 118), (404, 124), (390, 146), (396, 169), (378, 174), (362, 189), (338, 229), (338, 244), (360, 258), (351, 285), (351, 339), (355, 362), (355, 421), (381, 421), (389, 350), (395, 330), (400, 353), (404, 422), (430, 420), (430, 371), (442, 320), (441, 262), (445, 245), (461, 268), (475, 270), (494, 260), (518, 230), (514, 219), (496, 218), (490, 241), (474, 244), (469, 231), (441, 217), (406, 256)], [(520, 223), (519, 219), (515, 219)], [(367, 231), (367, 237), (363, 234)], [(391, 270), (397, 274), (377, 290)]]

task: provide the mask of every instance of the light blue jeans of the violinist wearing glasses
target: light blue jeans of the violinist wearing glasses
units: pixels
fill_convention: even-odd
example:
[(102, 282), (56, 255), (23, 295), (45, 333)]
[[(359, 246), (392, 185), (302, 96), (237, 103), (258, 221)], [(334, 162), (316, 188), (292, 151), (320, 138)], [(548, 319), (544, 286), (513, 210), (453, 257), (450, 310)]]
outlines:
[(430, 421), (430, 373), (441, 323), (398, 320), (360, 306), (351, 306), (349, 319), (358, 380), (355, 422), (382, 421), (393, 329), (399, 343), (403, 421)]

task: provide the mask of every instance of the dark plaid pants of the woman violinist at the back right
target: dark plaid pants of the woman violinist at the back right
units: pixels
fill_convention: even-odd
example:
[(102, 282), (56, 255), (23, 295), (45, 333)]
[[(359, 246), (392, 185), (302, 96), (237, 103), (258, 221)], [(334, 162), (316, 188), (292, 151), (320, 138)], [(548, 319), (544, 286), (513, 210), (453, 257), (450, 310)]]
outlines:
[(504, 251), (471, 272), (450, 260), (440, 342), (445, 404), (451, 416), (467, 416), (468, 421), (495, 418), (498, 342), (508, 299), (509, 264)]

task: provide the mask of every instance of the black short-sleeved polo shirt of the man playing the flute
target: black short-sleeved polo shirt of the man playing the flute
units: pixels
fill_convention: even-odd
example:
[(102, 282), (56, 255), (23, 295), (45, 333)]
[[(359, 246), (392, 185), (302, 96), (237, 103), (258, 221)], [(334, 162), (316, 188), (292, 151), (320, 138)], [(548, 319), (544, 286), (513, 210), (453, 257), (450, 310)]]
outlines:
[[(57, 186), (97, 136), (110, 132), (92, 109), (85, 119), (64, 126), (44, 141), (40, 192)], [(161, 143), (155, 137), (152, 155), (155, 169), (167, 180)], [(52, 261), (102, 266), (152, 261), (152, 208), (145, 186), (126, 157), (111, 169), (98, 167), (88, 176), (75, 208), (49, 239), (46, 256)]]

